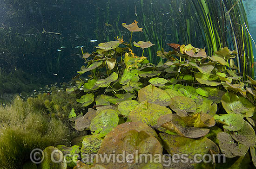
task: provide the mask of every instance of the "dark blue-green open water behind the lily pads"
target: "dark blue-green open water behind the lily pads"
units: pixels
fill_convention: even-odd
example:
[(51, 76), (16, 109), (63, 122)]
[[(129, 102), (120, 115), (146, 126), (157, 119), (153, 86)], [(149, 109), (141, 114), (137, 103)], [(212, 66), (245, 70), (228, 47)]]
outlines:
[[(256, 1), (243, 0), (243, 4), (251, 35), (256, 38)], [(170, 50), (166, 43), (191, 43), (210, 51), (195, 7), (187, 0), (0, 0), (0, 70), (4, 76), (13, 75), (0, 81), (5, 83), (0, 84), (0, 94), (33, 91), (29, 84), (70, 81), (84, 64), (81, 48), (75, 47), (82, 45), (84, 52), (90, 53), (94, 46), (117, 36), (129, 41), (130, 32), (121, 25), (124, 22), (137, 20), (143, 28), (134, 33), (133, 41), (155, 44), (145, 52), (153, 63), (159, 61), (157, 50)], [(209, 10), (218, 7), (209, 4)], [(222, 19), (218, 12), (213, 19)], [(222, 47), (234, 50), (227, 30)], [(141, 50), (134, 51), (141, 55)], [(18, 88), (13, 82), (13, 88), (7, 90), (11, 86), (7, 81), (17, 76), (27, 87)]]

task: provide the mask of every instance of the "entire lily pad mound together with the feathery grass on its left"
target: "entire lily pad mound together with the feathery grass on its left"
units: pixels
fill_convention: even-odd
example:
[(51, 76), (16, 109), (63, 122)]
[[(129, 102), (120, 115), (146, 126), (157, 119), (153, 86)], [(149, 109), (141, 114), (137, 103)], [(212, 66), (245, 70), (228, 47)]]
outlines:
[[(122, 25), (131, 34), (141, 30), (136, 21)], [(45, 148), (45, 160), (37, 166), (40, 169), (228, 169), (242, 163), (244, 168), (256, 166), (256, 81), (249, 76), (245, 81), (236, 73), (236, 51), (224, 47), (208, 56), (204, 49), (191, 44), (168, 44), (173, 50), (157, 51), (162, 62), (155, 65), (133, 52), (135, 47), (143, 51), (154, 46), (150, 41), (132, 41), (139, 33), (130, 36), (128, 42), (117, 37), (101, 43), (91, 54), (84, 53), (81, 47), (86, 65), (74, 77), (76, 85), (66, 88), (66, 93), (40, 94), (26, 102), (17, 98), (13, 105), (1, 107), (1, 124), (10, 126), (10, 131), (1, 131), (0, 143), (9, 142), (8, 148), (0, 149), (0, 158), (6, 162), (3, 166), (16, 165), (13, 159), (33, 148)], [(12, 128), (17, 132), (13, 133)], [(35, 134), (27, 136), (30, 129)], [(9, 141), (13, 135), (17, 135), (17, 142)], [(7, 150), (16, 153), (5, 156)], [(61, 163), (53, 163), (53, 150), (74, 155), (74, 159), (66, 156)], [(149, 163), (149, 156), (142, 163), (97, 163), (94, 155), (94, 161), (89, 160), (93, 154), (122, 154), (123, 150), (125, 155), (135, 156), (138, 150), (163, 158), (157, 163)], [(172, 163), (165, 153), (188, 154), (190, 163)], [(195, 154), (207, 153), (210, 163), (195, 162)], [(225, 155), (226, 163), (213, 157), (219, 153)], [(19, 164), (28, 158), (24, 156)]]

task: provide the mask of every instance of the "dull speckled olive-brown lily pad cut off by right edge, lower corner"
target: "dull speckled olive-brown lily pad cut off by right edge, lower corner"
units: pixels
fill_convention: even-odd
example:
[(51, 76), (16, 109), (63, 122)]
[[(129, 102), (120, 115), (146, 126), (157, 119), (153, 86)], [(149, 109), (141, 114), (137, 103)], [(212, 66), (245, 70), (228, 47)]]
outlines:
[(255, 141), (256, 141), (255, 131), (247, 121), (244, 121), (243, 126), (240, 130), (230, 135), (238, 143), (241, 143), (250, 147), (255, 146)]

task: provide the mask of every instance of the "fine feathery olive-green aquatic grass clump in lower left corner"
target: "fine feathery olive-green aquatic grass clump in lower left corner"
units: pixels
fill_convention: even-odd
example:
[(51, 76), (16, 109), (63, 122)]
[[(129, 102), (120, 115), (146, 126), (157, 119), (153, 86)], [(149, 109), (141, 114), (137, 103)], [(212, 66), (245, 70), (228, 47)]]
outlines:
[(0, 168), (17, 169), (35, 148), (68, 144), (68, 129), (58, 119), (34, 112), (31, 104), (16, 97), (0, 106)]

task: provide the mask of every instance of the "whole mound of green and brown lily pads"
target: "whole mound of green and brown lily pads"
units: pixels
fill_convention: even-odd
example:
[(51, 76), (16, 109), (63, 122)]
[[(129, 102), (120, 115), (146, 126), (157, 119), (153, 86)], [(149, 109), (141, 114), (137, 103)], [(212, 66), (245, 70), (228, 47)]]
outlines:
[[(142, 31), (136, 21), (123, 26), (131, 32)], [(142, 50), (153, 45), (133, 44)], [(147, 56), (133, 53), (131, 39), (126, 43), (117, 37), (96, 48), (74, 77), (76, 87), (67, 88), (67, 93), (77, 94), (86, 110), (70, 114), (75, 130), (90, 133), (81, 138), (79, 153), (125, 151), (125, 155), (136, 156), (138, 150), (170, 160), (163, 152), (188, 154), (187, 163), (171, 162), (167, 167), (174, 169), (221, 168), (226, 166), (222, 160), (196, 163), (194, 155), (222, 153), (229, 160), (226, 168), (234, 168), (246, 158), (256, 166), (256, 81), (249, 77), (244, 81), (240, 76), (233, 60), (235, 51), (225, 47), (208, 56), (191, 44), (175, 45), (175, 50), (158, 51), (163, 62), (155, 65)], [(83, 74), (88, 72), (85, 80)], [(247, 165), (244, 167), (250, 167)], [(145, 157), (141, 163), (107, 163), (94, 158), (90, 163), (77, 163), (76, 168), (79, 166), (164, 169), (166, 161), (149, 163)]]

